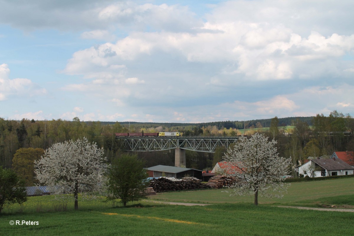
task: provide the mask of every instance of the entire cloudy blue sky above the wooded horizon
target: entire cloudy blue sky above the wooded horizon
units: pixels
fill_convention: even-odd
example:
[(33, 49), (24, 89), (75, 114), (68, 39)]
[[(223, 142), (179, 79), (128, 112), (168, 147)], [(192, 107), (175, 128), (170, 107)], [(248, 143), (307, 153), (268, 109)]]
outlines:
[(354, 115), (354, 1), (0, 0), (0, 117)]

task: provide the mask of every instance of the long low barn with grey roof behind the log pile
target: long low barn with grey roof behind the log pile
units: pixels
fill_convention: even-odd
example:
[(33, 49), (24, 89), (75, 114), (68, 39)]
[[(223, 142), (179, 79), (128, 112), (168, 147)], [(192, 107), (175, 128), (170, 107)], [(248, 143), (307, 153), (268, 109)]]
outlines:
[(202, 171), (198, 169), (183, 168), (176, 166), (153, 166), (147, 169), (149, 177), (174, 177), (181, 179), (183, 177), (195, 177), (202, 179)]

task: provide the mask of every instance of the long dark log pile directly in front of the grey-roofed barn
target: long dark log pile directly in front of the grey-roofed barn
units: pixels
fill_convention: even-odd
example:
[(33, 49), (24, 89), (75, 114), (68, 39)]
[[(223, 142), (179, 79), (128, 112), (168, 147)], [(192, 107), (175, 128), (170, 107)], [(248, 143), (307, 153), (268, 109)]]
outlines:
[(153, 188), (155, 192), (209, 188), (209, 186), (201, 183), (201, 180), (194, 177), (183, 177), (182, 179), (154, 178), (150, 180), (149, 187)]

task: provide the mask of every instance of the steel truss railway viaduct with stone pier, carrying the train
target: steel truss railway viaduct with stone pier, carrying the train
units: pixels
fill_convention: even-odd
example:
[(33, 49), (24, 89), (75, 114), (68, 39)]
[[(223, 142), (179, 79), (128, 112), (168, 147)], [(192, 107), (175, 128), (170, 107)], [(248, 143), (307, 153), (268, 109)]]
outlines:
[(239, 137), (116, 137), (127, 151), (161, 151), (175, 149), (175, 166), (185, 165), (185, 150), (215, 152), (215, 148), (236, 142)]

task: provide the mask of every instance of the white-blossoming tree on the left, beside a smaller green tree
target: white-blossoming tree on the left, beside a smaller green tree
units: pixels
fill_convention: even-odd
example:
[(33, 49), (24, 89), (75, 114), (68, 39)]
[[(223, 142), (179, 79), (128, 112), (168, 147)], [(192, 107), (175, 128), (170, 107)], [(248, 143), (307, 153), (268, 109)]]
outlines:
[(83, 140), (53, 144), (35, 161), (36, 178), (55, 194), (73, 194), (75, 210), (78, 194), (99, 191), (104, 185), (107, 159), (96, 143)]

